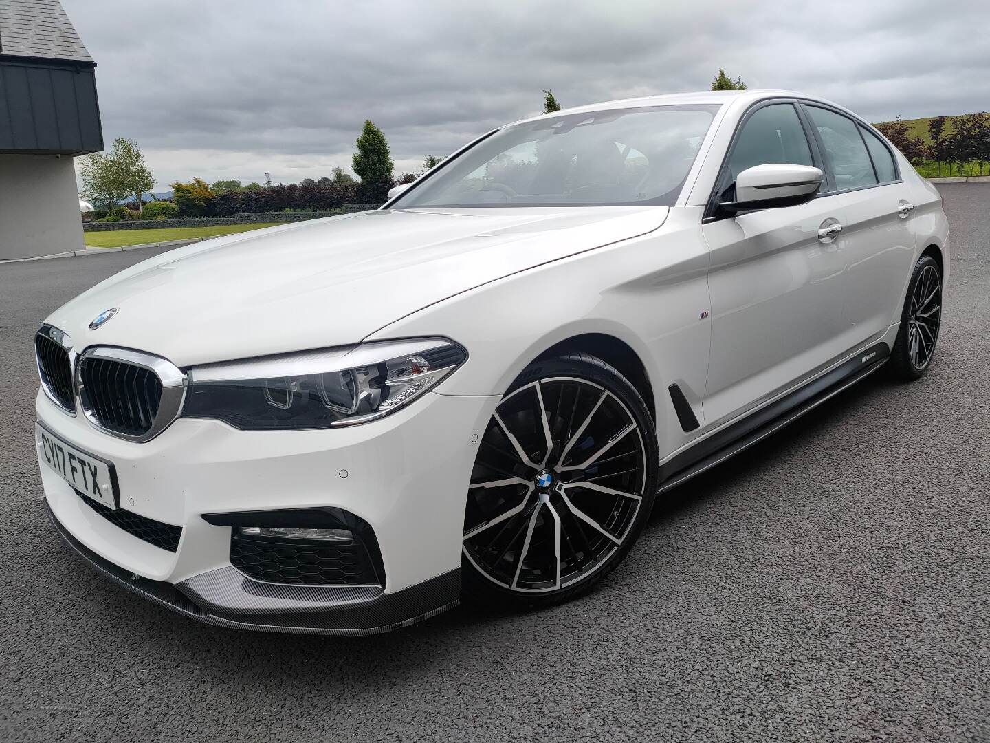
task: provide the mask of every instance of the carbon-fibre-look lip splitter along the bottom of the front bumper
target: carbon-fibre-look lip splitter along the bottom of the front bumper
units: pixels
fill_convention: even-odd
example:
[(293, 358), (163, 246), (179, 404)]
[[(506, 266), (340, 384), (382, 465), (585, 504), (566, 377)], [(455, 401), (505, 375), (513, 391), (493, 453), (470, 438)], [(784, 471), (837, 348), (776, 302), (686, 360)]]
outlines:
[(372, 635), (415, 624), (459, 603), (460, 569), (394, 593), (377, 586), (266, 584), (233, 567), (179, 584), (130, 573), (87, 548), (45, 509), (65, 544), (115, 584), (205, 624), (261, 632)]

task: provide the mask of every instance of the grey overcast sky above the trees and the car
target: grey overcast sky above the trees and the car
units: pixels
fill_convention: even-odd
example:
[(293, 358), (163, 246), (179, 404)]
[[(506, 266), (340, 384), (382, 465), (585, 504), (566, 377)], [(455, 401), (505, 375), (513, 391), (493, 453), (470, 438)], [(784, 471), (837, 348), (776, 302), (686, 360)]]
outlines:
[(364, 119), (396, 172), (564, 106), (707, 89), (831, 98), (870, 121), (990, 107), (987, 0), (62, 0), (98, 63), (103, 131), (158, 182), (349, 170)]

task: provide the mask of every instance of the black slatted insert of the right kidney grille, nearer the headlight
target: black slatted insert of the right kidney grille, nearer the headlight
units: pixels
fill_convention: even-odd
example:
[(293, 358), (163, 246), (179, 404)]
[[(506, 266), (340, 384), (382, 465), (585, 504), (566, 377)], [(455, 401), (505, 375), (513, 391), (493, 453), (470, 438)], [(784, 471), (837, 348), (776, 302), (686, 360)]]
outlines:
[(148, 433), (161, 403), (154, 371), (110, 359), (83, 359), (79, 377), (86, 408), (101, 426), (128, 436)]

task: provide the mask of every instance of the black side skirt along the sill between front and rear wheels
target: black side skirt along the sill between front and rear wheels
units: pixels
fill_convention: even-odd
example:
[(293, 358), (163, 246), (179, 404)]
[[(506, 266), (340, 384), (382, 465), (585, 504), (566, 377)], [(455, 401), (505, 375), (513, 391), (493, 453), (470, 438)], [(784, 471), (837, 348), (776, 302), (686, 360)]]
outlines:
[(846, 387), (869, 376), (886, 364), (889, 358), (887, 344), (870, 346), (834, 370), (699, 442), (660, 467), (657, 492), (670, 490), (740, 454)]

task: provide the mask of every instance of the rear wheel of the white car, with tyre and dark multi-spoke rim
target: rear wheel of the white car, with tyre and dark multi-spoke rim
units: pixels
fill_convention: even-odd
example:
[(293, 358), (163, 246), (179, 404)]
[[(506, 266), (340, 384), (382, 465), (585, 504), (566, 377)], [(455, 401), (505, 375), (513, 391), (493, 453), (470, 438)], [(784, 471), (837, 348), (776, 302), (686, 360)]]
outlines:
[(890, 375), (902, 381), (921, 378), (932, 364), (941, 326), (941, 271), (922, 256), (911, 271), (901, 310), (901, 327), (890, 354)]

